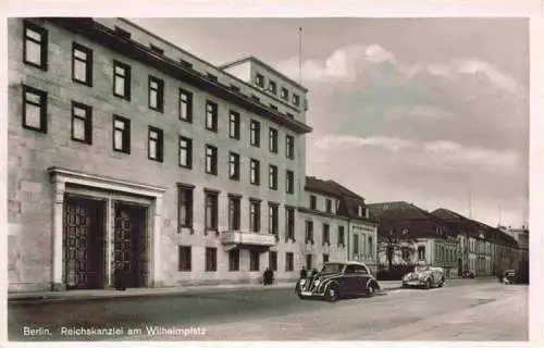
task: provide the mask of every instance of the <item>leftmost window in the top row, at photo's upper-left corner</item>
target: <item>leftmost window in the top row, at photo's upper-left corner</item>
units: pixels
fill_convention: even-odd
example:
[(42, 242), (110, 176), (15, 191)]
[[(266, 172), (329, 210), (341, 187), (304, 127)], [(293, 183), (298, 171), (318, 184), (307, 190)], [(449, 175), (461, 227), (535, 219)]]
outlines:
[(48, 32), (28, 21), (24, 22), (23, 61), (47, 71)]

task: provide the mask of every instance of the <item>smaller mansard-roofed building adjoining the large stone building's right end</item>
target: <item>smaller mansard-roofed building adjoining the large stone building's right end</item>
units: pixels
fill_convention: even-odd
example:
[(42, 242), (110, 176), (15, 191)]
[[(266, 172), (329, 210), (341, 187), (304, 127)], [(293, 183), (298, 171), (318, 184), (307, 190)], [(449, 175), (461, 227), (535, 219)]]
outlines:
[(304, 265), (357, 260), (375, 272), (376, 224), (364, 199), (334, 181), (313, 176), (307, 177), (304, 195), (298, 224), (306, 233)]

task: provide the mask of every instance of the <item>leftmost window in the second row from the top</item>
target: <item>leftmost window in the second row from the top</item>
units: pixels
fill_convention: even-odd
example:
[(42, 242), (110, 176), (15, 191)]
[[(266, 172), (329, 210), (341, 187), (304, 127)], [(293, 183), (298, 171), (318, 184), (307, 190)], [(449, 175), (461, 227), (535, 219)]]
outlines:
[(23, 86), (23, 127), (47, 133), (47, 91)]

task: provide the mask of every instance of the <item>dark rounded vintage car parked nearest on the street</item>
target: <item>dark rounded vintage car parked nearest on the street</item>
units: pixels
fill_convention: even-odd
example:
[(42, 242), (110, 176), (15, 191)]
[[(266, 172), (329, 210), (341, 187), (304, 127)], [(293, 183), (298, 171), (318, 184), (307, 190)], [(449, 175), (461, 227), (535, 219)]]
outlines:
[(336, 301), (344, 296), (372, 295), (380, 290), (378, 281), (361, 262), (327, 262), (311, 277), (298, 282), (296, 291), (300, 299), (323, 298)]

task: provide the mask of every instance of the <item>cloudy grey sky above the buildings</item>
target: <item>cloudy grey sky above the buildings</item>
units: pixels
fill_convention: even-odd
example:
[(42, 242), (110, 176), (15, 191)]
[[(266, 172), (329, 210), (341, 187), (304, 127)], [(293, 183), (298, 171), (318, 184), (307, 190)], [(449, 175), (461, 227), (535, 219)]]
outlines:
[(131, 18), (213, 64), (255, 55), (309, 89), (307, 175), (368, 203), (527, 224), (524, 18)]

